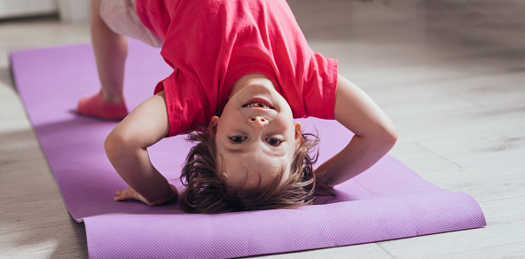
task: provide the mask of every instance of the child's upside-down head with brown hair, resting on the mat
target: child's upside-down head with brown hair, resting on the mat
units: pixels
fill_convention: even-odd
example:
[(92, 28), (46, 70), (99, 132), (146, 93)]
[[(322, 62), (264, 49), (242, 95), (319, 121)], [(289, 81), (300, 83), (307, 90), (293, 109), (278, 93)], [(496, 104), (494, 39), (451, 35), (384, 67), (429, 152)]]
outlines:
[(263, 76), (247, 75), (188, 154), (181, 178), (181, 208), (219, 213), (294, 208), (313, 202), (315, 176), (309, 155), (317, 137), (303, 135), (285, 98)]

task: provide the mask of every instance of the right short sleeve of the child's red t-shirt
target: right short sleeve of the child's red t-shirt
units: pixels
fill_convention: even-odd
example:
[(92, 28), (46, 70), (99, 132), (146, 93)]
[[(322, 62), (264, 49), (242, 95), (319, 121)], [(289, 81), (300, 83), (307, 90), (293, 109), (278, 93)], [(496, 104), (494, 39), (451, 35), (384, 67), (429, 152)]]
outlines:
[(337, 59), (314, 53), (304, 73), (302, 98), (307, 116), (333, 120), (337, 92)]

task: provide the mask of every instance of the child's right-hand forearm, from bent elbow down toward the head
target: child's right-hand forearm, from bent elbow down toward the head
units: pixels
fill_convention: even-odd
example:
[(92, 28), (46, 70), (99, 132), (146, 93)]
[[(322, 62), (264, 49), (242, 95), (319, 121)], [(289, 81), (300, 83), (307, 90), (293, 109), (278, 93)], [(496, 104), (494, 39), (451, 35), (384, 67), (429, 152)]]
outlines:
[(395, 139), (352, 137), (340, 153), (321, 164), (315, 171), (317, 181), (328, 186), (341, 184), (369, 169), (392, 148)]

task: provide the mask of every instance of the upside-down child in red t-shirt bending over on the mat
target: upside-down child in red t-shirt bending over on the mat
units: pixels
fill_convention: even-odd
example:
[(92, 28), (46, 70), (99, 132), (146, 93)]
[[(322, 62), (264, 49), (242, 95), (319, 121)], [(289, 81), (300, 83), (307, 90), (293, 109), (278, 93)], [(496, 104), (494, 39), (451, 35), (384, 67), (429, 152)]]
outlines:
[[(101, 90), (82, 98), (77, 112), (123, 118), (105, 145), (129, 184), (115, 200), (176, 200), (147, 147), (193, 130), (197, 144), (181, 175), (187, 188), (180, 204), (192, 213), (311, 204), (318, 186), (357, 176), (396, 142), (393, 122), (337, 74), (337, 61), (311, 51), (285, 0), (93, 0), (91, 11)], [(127, 116), (121, 34), (161, 46), (174, 69)], [(293, 121), (307, 116), (335, 119), (355, 133), (315, 172), (308, 153), (316, 141)]]

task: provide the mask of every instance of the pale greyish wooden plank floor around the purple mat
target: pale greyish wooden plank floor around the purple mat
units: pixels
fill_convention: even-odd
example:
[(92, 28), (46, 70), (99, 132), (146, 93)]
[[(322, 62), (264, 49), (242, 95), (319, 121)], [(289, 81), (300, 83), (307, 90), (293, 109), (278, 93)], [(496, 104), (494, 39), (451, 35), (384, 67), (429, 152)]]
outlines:
[[(398, 3), (399, 2), (399, 3)], [(525, 2), (289, 0), (311, 47), (396, 122), (392, 154), (470, 193), (480, 229), (270, 255), (525, 258)], [(87, 257), (17, 95), (8, 53), (90, 41), (52, 18), (0, 21), (0, 257)]]

